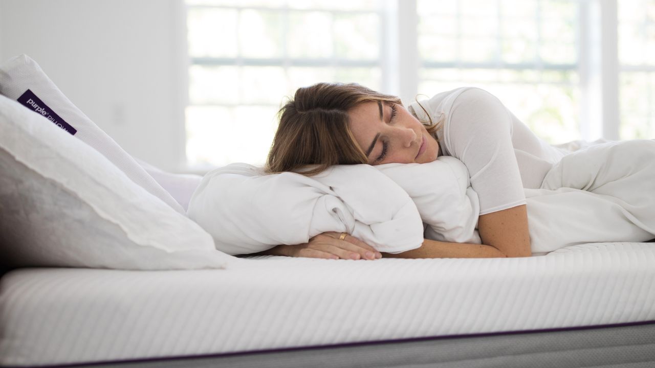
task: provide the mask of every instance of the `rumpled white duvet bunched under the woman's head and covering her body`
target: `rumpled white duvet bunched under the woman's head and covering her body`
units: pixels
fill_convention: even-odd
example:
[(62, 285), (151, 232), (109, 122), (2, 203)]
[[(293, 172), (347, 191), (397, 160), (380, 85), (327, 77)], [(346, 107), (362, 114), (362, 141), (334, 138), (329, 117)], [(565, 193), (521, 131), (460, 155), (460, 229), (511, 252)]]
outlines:
[[(655, 141), (616, 141), (565, 156), (540, 189), (525, 189), (533, 253), (655, 237)], [(334, 166), (314, 177), (231, 164), (207, 174), (189, 217), (229, 254), (348, 232), (379, 251), (423, 238), (480, 243), (479, 202), (462, 162)]]

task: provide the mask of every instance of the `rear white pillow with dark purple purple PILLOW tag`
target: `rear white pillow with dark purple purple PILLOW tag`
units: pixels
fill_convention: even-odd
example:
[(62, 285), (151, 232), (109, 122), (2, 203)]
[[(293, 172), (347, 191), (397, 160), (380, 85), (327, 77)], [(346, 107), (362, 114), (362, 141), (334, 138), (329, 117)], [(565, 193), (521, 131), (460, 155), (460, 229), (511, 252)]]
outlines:
[(185, 213), (176, 200), (121, 146), (98, 128), (50, 81), (41, 67), (27, 55), (16, 56), (0, 66), (0, 94), (20, 102), (47, 118), (65, 132), (94, 147), (122, 170), (134, 183)]

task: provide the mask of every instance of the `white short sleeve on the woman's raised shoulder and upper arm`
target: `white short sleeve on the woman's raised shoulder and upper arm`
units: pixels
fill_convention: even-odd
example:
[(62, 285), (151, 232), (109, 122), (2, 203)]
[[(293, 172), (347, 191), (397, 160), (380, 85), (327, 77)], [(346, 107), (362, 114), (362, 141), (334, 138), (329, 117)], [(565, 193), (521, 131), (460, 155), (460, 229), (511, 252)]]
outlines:
[(444, 112), (442, 149), (468, 168), (480, 215), (525, 204), (510, 111), (489, 92), (468, 88)]

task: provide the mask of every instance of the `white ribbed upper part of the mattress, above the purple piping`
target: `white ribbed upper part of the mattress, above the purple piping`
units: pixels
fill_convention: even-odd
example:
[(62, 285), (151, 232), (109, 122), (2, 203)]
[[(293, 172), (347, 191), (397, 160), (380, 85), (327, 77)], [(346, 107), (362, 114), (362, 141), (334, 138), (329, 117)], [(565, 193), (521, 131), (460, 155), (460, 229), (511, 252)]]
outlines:
[(194, 356), (655, 320), (655, 244), (526, 259), (257, 257), (228, 270), (14, 270), (0, 365)]

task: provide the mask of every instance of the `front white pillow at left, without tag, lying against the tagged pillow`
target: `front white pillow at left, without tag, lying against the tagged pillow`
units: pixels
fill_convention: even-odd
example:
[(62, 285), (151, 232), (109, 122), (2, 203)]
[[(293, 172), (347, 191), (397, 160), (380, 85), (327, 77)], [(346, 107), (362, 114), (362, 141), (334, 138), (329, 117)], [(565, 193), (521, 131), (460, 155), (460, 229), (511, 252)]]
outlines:
[(224, 268), (212, 236), (79, 139), (0, 96), (0, 266)]

